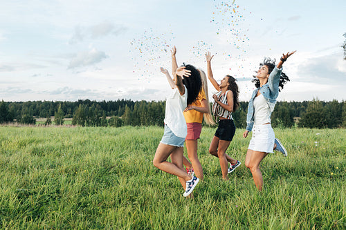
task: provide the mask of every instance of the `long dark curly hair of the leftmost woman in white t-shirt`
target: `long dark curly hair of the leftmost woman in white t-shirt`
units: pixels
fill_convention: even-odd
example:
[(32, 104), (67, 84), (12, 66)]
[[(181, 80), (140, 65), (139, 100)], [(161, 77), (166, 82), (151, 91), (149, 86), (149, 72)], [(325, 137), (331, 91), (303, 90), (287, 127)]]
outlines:
[(191, 71), (190, 77), (184, 77), (183, 84), (188, 89), (188, 105), (197, 101), (199, 91), (202, 88), (201, 75), (199, 74), (199, 70), (192, 65), (185, 65), (186, 70)]

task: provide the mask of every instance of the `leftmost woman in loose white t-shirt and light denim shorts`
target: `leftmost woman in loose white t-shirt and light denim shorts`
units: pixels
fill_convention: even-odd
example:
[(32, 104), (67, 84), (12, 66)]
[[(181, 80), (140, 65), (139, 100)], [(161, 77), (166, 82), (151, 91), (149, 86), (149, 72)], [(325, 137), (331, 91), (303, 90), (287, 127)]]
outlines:
[[(183, 111), (195, 102), (201, 90), (201, 77), (194, 66), (186, 65), (173, 73), (176, 88), (167, 97), (165, 107), (165, 131), (156, 149), (153, 164), (156, 168), (176, 175), (185, 189), (184, 196), (190, 195), (199, 178), (189, 175), (183, 168), (183, 146), (188, 134)], [(167, 162), (171, 157), (172, 162)]]

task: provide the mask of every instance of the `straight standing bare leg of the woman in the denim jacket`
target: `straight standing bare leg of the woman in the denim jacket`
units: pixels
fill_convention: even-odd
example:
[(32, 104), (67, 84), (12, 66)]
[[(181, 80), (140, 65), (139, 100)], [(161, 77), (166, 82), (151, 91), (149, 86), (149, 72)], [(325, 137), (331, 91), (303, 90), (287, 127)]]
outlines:
[(260, 163), (266, 157), (268, 153), (253, 151), (248, 149), (245, 158), (245, 166), (250, 169), (251, 174), (253, 175), (253, 181), (258, 190), (262, 191), (263, 188), (263, 177), (260, 170)]

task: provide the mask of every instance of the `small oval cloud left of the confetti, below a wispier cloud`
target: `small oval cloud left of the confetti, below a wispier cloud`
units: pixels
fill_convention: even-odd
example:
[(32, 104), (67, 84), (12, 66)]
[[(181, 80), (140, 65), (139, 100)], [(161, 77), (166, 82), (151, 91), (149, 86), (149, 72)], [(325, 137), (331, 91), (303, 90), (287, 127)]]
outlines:
[(76, 54), (71, 60), (68, 68), (71, 69), (81, 66), (90, 66), (99, 63), (102, 59), (106, 59), (107, 57), (108, 56), (105, 52), (96, 50), (95, 48), (89, 51), (78, 52), (78, 54)]

